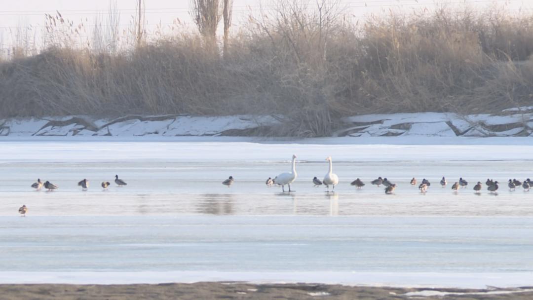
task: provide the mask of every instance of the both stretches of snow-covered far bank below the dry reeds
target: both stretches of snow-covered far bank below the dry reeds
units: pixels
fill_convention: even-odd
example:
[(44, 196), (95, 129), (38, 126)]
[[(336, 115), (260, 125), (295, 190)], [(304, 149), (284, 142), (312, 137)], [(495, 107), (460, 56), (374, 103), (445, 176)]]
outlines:
[[(334, 137), (526, 137), (533, 135), (533, 112), (505, 110), (501, 115), (424, 112), (361, 115), (343, 118)], [(274, 116), (125, 116), (95, 119), (87, 116), (11, 118), (0, 120), (0, 136), (183, 137), (261, 136), (276, 132)], [(356, 140), (356, 139), (353, 139)]]

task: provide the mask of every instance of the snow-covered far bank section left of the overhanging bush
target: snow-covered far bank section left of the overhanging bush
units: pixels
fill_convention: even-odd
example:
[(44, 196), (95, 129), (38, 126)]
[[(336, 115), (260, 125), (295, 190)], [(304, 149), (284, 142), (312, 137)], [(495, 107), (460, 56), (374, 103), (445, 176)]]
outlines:
[(275, 124), (273, 117), (247, 115), (12, 118), (0, 120), (0, 136), (239, 136)]

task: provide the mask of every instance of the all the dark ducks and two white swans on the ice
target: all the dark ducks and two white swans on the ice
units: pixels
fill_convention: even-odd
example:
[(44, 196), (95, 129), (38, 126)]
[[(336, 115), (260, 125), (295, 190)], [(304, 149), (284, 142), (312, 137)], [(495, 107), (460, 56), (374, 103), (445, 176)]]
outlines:
[[(326, 173), (326, 175), (324, 176), (324, 179), (320, 180), (318, 179), (318, 177), (314, 177), (313, 178), (313, 185), (315, 187), (319, 187), (320, 185), (325, 185), (325, 187), (328, 189), (328, 192), (329, 192), (329, 186), (331, 185), (332, 186), (332, 191), (335, 189), (335, 185), (338, 184), (338, 176), (337, 174), (333, 173), (333, 161), (332, 161), (332, 158), (330, 156), (328, 156), (326, 158), (326, 161), (329, 163), (329, 169), (328, 169), (328, 172)], [(281, 187), (281, 190), (283, 192), (285, 192), (285, 185), (288, 185), (288, 188), (289, 188), (289, 192), (293, 192), (292, 190), (290, 190), (290, 184), (293, 183), (295, 180), (296, 180), (296, 176), (297, 176), (297, 173), (296, 173), (296, 156), (293, 155), (293, 160), (292, 160), (292, 163), (291, 163), (291, 170), (290, 172), (286, 172), (286, 173), (281, 173), (279, 174), (278, 176), (274, 177), (272, 179), (272, 177), (269, 177), (267, 180), (266, 180), (266, 185), (268, 187), (271, 187), (272, 185), (278, 185)], [(233, 179), (233, 176), (229, 176), (229, 178), (227, 180), (224, 180), (222, 182), (223, 185), (227, 185), (227, 187), (231, 187), (231, 185), (235, 182), (235, 179)], [(119, 179), (118, 178), (118, 175), (115, 175), (115, 183), (119, 186), (119, 187), (122, 187), (124, 185), (127, 185), (126, 182), (124, 182), (122, 179)], [(373, 180), (370, 182), (370, 184), (372, 185), (376, 185), (377, 187), (380, 187), (381, 185), (383, 185), (385, 187), (385, 193), (386, 194), (391, 194), (392, 192), (394, 192), (394, 189), (396, 189), (397, 185), (395, 183), (392, 183), (391, 181), (387, 180), (386, 177), (385, 178), (382, 178), (382, 177), (378, 177), (377, 179)], [(410, 184), (411, 185), (417, 185), (417, 180), (415, 177), (413, 177), (413, 179), (411, 179), (410, 181)], [(448, 182), (446, 181), (446, 178), (445, 177), (442, 177), (442, 180), (440, 181), (440, 185), (442, 188), (446, 188), (446, 185), (448, 184)], [(498, 189), (499, 189), (499, 186), (498, 186), (498, 181), (493, 181), (493, 180), (490, 180), (490, 179), (487, 179), (487, 181), (485, 182), (485, 184), (487, 185), (487, 190), (490, 191), (491, 193), (495, 193)], [(104, 181), (101, 183), (101, 186), (103, 189), (107, 189), (109, 187), (110, 183), (107, 182), (107, 181)], [(351, 185), (357, 187), (358, 189), (361, 189), (362, 187), (365, 186), (365, 183), (362, 182), (359, 178), (352, 181), (351, 182)], [(418, 189), (422, 192), (422, 193), (425, 193), (427, 191), (427, 189), (429, 189), (431, 183), (426, 180), (425, 178), (422, 180), (422, 182), (418, 185)], [(466, 180), (464, 180), (462, 177), (459, 178), (459, 181), (455, 182), (454, 184), (451, 185), (451, 189), (456, 192), (458, 191), (459, 189), (461, 188), (466, 188), (468, 185), (468, 182)], [(79, 181), (78, 182), (78, 186), (79, 187), (82, 187), (83, 190), (87, 190), (88, 187), (89, 187), (89, 181), (87, 179), (84, 179), (82, 181)], [(507, 183), (507, 186), (509, 187), (510, 190), (515, 190), (515, 188), (517, 187), (522, 187), (524, 189), (524, 191), (529, 191), (530, 187), (533, 187), (533, 182), (531, 182), (529, 180), (529, 178), (527, 180), (524, 180), (523, 182), (519, 181), (519, 180), (516, 180), (516, 179), (510, 179)], [(53, 183), (51, 183), (50, 181), (46, 181), (46, 182), (42, 182), (41, 179), (37, 179), (37, 182), (35, 182), (34, 184), (31, 185), (32, 188), (34, 189), (37, 189), (37, 190), (40, 190), (42, 189), (43, 187), (49, 191), (53, 191), (53, 190), (57, 190), (59, 189), (59, 187)], [(478, 181), (477, 184), (474, 185), (474, 191), (476, 193), (480, 193), (481, 192), (481, 189), (482, 189), (482, 184), (481, 182)], [(22, 215), (22, 216), (25, 216), (26, 215), (26, 212), (28, 211), (28, 208), (26, 207), (26, 205), (23, 205), (19, 208), (19, 213)]]

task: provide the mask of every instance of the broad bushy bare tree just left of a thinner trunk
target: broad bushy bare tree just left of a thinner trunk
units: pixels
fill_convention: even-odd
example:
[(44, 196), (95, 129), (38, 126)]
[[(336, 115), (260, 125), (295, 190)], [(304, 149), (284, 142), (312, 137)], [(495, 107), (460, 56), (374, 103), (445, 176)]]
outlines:
[(220, 0), (191, 0), (191, 15), (207, 47), (216, 49), (216, 28), (221, 18)]

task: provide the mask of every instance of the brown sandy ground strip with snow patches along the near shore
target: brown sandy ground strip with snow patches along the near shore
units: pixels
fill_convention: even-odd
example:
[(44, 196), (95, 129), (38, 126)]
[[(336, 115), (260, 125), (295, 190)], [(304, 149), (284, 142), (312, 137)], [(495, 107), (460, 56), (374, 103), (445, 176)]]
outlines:
[[(526, 289), (526, 288), (523, 288)], [(450, 292), (460, 295), (409, 296), (406, 293)], [(528, 289), (529, 290), (529, 289)], [(428, 292), (429, 291), (429, 292)], [(464, 294), (462, 294), (464, 293)], [(489, 294), (487, 294), (489, 293)], [(497, 294), (502, 293), (502, 294)], [(533, 299), (533, 291), (405, 289), (321, 284), (198, 282), (159, 285), (0, 285), (1, 299)]]

